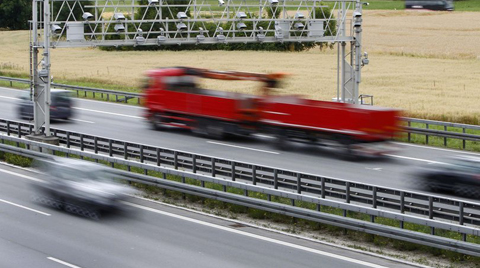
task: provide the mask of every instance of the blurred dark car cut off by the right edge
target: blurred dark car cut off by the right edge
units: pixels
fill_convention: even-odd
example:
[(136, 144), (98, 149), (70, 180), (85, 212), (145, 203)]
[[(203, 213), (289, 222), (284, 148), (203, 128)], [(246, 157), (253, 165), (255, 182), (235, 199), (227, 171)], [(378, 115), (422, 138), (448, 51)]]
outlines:
[(447, 159), (445, 163), (430, 164), (418, 170), (417, 176), (422, 188), (480, 197), (479, 156), (457, 156)]

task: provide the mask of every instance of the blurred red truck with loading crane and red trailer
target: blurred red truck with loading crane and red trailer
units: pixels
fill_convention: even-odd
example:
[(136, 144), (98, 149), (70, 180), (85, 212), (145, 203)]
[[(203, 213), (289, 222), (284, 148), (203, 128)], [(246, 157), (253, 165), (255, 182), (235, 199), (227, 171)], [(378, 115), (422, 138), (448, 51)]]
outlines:
[[(399, 111), (388, 108), (275, 96), (283, 73), (222, 72), (172, 67), (147, 73), (145, 117), (155, 129), (191, 129), (221, 139), (227, 134), (266, 133), (284, 148), (288, 140), (337, 145), (347, 155), (388, 152), (400, 130)], [(198, 87), (198, 78), (262, 83), (249, 95)]]

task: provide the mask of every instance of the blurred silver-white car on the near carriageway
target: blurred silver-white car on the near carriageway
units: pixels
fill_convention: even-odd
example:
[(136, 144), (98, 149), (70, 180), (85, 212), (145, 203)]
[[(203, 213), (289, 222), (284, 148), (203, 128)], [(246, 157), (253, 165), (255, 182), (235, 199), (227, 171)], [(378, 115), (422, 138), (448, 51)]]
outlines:
[(120, 183), (112, 169), (69, 158), (39, 161), (41, 182), (33, 184), (35, 201), (98, 219), (105, 212), (125, 211), (122, 201), (137, 191)]

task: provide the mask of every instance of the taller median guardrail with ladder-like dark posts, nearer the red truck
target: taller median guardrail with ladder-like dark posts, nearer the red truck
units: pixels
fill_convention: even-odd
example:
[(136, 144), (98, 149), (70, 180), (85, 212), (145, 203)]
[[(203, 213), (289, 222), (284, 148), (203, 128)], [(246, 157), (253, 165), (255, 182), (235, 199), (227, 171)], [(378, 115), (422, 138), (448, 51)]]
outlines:
[[(0, 119), (0, 132), (7, 135), (28, 135), (32, 125)], [(338, 201), (348, 206), (357, 206), (360, 211), (375, 217), (381, 216), (399, 221), (446, 229), (467, 235), (480, 235), (480, 204), (458, 199), (433, 196), (406, 190), (381, 187), (371, 184), (341, 180), (320, 175), (261, 166), (207, 155), (176, 151), (168, 148), (148, 146), (104, 137), (52, 129), (66, 149), (75, 148), (114, 157), (116, 161), (137, 161), (142, 164), (145, 174), (156, 167), (182, 170), (199, 176), (208, 176), (240, 182), (269, 191), (280, 191), (279, 196), (295, 201), (312, 200)], [(5, 136), (3, 136), (5, 137)], [(0, 136), (0, 138), (3, 138)], [(56, 147), (60, 150), (62, 147)], [(114, 162), (111, 162), (114, 163)], [(131, 164), (130, 164), (131, 165)], [(155, 167), (155, 168), (154, 168)], [(203, 184), (202, 184), (203, 185)], [(224, 191), (226, 187), (224, 185)], [(257, 190), (258, 191), (258, 190)], [(319, 204), (318, 202), (314, 202)], [(337, 208), (345, 209), (341, 206)], [(379, 213), (381, 211), (381, 213)], [(346, 214), (346, 210), (344, 211)], [(472, 228), (472, 226), (474, 228)]]

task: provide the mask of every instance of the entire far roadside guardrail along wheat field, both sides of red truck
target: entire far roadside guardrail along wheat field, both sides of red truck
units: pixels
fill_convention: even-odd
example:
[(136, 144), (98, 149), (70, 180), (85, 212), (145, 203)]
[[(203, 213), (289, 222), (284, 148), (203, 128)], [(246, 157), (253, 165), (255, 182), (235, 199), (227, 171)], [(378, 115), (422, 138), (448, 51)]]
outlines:
[[(12, 78), (12, 77), (5, 77), (0, 76), (0, 80), (9, 81), (10, 86), (12, 86), (13, 82), (18, 83), (30, 83), (28, 79), (21, 79), (21, 78)], [(99, 89), (99, 88), (88, 88), (88, 87), (79, 87), (79, 86), (70, 86), (70, 85), (63, 85), (63, 84), (55, 84), (52, 83), (52, 86), (57, 88), (63, 88), (67, 90), (74, 90), (77, 92), (77, 96), (80, 96), (80, 92), (83, 92), (84, 97), (87, 96), (87, 92), (91, 92), (92, 96), (95, 98), (95, 94), (99, 94), (103, 99), (106, 96), (106, 100), (110, 100), (110, 95), (115, 96), (115, 101), (117, 102), (128, 102), (129, 99), (137, 99), (137, 103), (140, 103), (140, 99), (142, 94), (140, 93), (132, 93), (132, 92), (123, 92), (123, 91), (114, 91), (108, 89)], [(364, 95), (365, 97), (370, 97), (370, 95)], [(119, 98), (120, 97), (120, 98)], [(362, 100), (363, 101), (363, 100)], [(373, 100), (372, 100), (373, 101)], [(407, 123), (407, 126), (404, 128), (404, 131), (407, 132), (408, 141), (412, 141), (412, 134), (419, 134), (425, 136), (425, 143), (430, 143), (430, 137), (440, 137), (443, 138), (443, 145), (447, 146), (448, 139), (457, 139), (462, 141), (462, 148), (467, 148), (467, 141), (472, 142), (479, 142), (480, 141), (480, 126), (476, 125), (467, 125), (467, 124), (457, 124), (457, 123), (450, 123), (450, 122), (442, 122), (442, 121), (434, 121), (434, 120), (425, 120), (425, 119), (417, 119), (417, 118), (402, 118), (404, 122)], [(412, 127), (412, 124), (420, 124), (425, 126), (422, 127)], [(430, 129), (431, 127), (441, 127), (443, 130), (438, 129)], [(453, 129), (461, 130), (461, 132), (455, 131)], [(469, 134), (469, 131), (479, 131), (479, 134)]]

